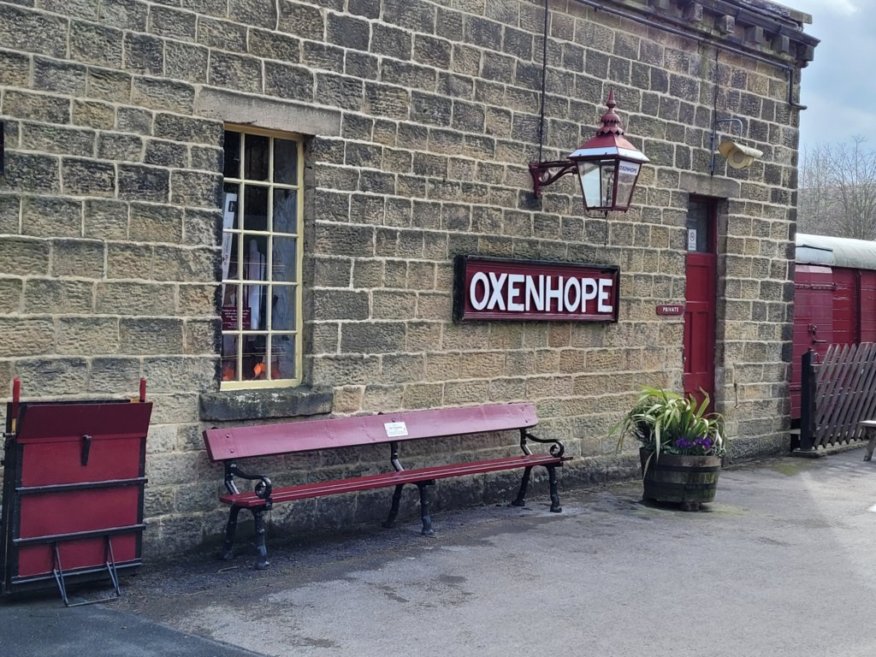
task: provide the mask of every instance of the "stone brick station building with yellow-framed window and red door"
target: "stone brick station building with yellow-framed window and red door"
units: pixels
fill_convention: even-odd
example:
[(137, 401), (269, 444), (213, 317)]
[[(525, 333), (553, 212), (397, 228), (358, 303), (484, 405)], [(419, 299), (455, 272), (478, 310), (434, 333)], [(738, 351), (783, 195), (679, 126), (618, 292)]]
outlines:
[[(152, 555), (221, 532), (200, 435), (221, 422), (529, 400), (567, 484), (628, 473), (608, 428), (642, 384), (682, 388), (686, 323), (732, 455), (781, 450), (809, 21), (764, 0), (0, 1), (0, 390), (148, 380)], [(575, 176), (535, 198), (528, 164), (590, 138), (609, 92), (650, 160), (630, 210), (585, 212)], [(728, 166), (724, 139), (762, 155)], [(454, 321), (459, 255), (617, 267), (617, 321)], [(274, 522), (368, 515), (301, 506)]]

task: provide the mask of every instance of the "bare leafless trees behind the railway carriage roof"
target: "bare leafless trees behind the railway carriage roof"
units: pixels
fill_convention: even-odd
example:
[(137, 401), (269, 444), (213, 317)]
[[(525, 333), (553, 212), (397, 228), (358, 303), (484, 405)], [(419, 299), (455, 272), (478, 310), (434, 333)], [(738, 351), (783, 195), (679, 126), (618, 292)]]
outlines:
[(799, 188), (801, 233), (876, 240), (876, 151), (866, 139), (804, 149)]

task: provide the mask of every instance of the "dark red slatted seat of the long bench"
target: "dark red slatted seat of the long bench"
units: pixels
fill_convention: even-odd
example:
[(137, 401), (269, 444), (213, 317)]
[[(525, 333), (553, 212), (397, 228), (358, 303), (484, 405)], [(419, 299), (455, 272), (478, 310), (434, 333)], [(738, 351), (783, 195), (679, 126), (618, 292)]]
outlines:
[[(439, 465), (401, 472), (382, 472), (375, 475), (355, 477), (353, 479), (338, 479), (325, 482), (313, 482), (274, 488), (271, 499), (275, 502), (294, 502), (325, 495), (340, 493), (352, 493), (360, 490), (373, 488), (386, 488), (399, 484), (410, 484), (431, 479), (446, 479), (468, 474), (480, 474), (486, 472), (498, 472), (512, 470), (527, 466), (538, 465), (562, 465), (568, 457), (555, 457), (550, 454), (532, 454), (529, 456), (511, 456), (486, 461), (470, 461), (468, 463), (453, 463), (451, 465)], [(265, 505), (265, 501), (253, 492), (238, 493), (236, 495), (222, 495), (220, 501), (225, 504), (241, 508), (256, 508)]]

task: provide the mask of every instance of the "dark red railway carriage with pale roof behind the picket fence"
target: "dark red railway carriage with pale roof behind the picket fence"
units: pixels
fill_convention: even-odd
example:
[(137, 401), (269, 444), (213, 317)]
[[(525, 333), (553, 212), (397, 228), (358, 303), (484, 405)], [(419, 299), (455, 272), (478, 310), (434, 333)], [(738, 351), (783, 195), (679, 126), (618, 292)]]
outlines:
[(876, 342), (876, 242), (797, 235), (791, 419), (800, 419), (800, 359), (831, 344)]

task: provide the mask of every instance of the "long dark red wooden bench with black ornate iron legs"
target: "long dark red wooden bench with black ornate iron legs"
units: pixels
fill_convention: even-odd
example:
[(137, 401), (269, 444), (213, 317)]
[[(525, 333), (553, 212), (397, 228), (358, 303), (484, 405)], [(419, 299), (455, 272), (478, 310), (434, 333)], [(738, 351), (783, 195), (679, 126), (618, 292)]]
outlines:
[[(523, 479), (512, 504), (523, 506), (532, 468), (543, 466), (548, 471), (551, 511), (558, 513), (562, 508), (557, 493), (556, 468), (562, 466), (569, 457), (563, 455), (564, 448), (558, 440), (537, 438), (529, 432), (529, 429), (537, 423), (535, 406), (523, 403), (401, 411), (385, 415), (359, 415), (208, 429), (204, 431), (204, 442), (209, 457), (213, 462), (221, 462), (225, 465), (227, 493), (220, 495), (219, 499), (231, 507), (225, 529), (222, 558), (233, 557), (234, 534), (237, 528), (237, 516), (241, 509), (249, 509), (255, 520), (258, 550), (256, 568), (261, 570), (268, 566), (263, 513), (270, 510), (274, 504), (394, 486), (389, 517), (383, 523), (385, 527), (391, 527), (398, 515), (399, 500), (405, 484), (418, 487), (423, 534), (431, 534), (432, 520), (429, 514), (427, 488), (433, 485), (436, 479), (448, 477), (522, 468)], [(522, 454), (412, 470), (405, 470), (399, 461), (400, 445), (407, 441), (509, 430), (520, 432)], [(546, 453), (534, 454), (527, 444), (529, 441), (547, 443), (550, 444), (550, 448)], [(275, 487), (267, 476), (244, 472), (238, 465), (238, 461), (242, 459), (255, 457), (295, 455), (302, 452), (376, 444), (389, 446), (391, 471)], [(256, 482), (253, 490), (239, 490), (234, 481), (236, 477)]]

